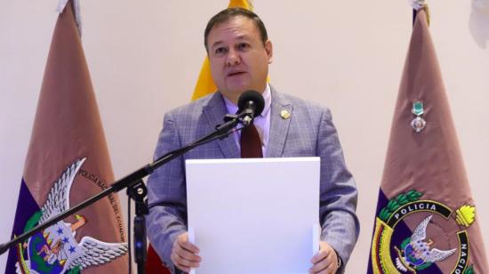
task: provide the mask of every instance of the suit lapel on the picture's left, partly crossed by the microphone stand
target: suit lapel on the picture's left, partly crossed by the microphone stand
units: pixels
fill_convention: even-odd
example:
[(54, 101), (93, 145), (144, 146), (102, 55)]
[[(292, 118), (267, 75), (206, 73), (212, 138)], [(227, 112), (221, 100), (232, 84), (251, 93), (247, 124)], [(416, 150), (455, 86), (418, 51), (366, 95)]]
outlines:
[[(227, 114), (226, 104), (222, 99), (222, 95), (216, 92), (212, 95), (211, 100), (203, 108), (204, 116), (207, 119), (209, 128), (214, 129), (216, 125), (224, 123), (223, 118)], [(222, 155), (226, 158), (239, 158), (240, 153), (236, 146), (235, 137), (233, 133), (229, 134), (227, 138), (222, 140), (216, 140)]]

